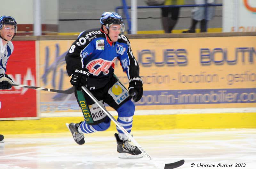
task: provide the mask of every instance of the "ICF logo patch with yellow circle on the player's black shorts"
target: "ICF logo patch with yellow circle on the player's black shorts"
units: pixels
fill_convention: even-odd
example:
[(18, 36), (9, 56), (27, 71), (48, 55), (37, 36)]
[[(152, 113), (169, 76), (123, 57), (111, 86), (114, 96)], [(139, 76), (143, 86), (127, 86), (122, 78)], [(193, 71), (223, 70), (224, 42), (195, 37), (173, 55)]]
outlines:
[(128, 96), (128, 91), (124, 88), (124, 86), (117, 81), (109, 90), (108, 94), (113, 97), (116, 104), (120, 104), (123, 102)]

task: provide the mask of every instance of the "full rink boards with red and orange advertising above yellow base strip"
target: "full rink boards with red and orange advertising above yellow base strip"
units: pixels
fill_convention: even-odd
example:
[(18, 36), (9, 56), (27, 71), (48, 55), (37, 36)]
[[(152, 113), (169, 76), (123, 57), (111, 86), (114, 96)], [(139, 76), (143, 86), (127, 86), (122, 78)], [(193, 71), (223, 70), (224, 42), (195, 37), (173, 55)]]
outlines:
[[(136, 126), (141, 127), (138, 130), (148, 130), (148, 127), (256, 127), (255, 35), (148, 39), (129, 37), (144, 81), (144, 94), (136, 103), (136, 111), (145, 111), (134, 117), (133, 129), (136, 130)], [(64, 61), (75, 38), (70, 39), (40, 40), (39, 37), (30, 41), (14, 41), (15, 50), (8, 61), (7, 74), (20, 84), (59, 90), (70, 88)], [(128, 87), (126, 74), (118, 62), (115, 65), (116, 76)], [(1, 91), (0, 102), (0, 120), (41, 117), (40, 121), (15, 123), (49, 122), (48, 132), (55, 132), (57, 126), (58, 130), (66, 130), (58, 121), (67, 119), (66, 123), (72, 122), (73, 118), (79, 119), (74, 117), (80, 108), (73, 94), (13, 87)], [(216, 110), (225, 108), (230, 111)], [(109, 107), (107, 109), (113, 110)], [(182, 111), (184, 109), (187, 111)], [(200, 111), (195, 111), (197, 109)], [(162, 110), (167, 110), (167, 113), (157, 114)], [(210, 113), (206, 113), (208, 110)], [(152, 111), (155, 113), (150, 113)], [(61, 117), (63, 114), (66, 117)], [(48, 118), (51, 116), (53, 118)], [(58, 116), (63, 119), (56, 119)], [(69, 116), (73, 117), (68, 119)], [(56, 120), (50, 125), (52, 119)], [(111, 127), (115, 129), (114, 125)], [(0, 132), (4, 131), (4, 128), (0, 129)], [(42, 129), (44, 131), (47, 130)]]

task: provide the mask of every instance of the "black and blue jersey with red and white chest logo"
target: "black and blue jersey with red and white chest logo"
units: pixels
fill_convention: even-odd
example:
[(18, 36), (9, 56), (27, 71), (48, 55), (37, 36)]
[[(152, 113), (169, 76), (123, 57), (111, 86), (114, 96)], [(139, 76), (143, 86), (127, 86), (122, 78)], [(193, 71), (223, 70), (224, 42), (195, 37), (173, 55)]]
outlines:
[(139, 77), (139, 65), (133, 57), (129, 40), (120, 35), (117, 42), (109, 43), (100, 29), (82, 32), (71, 45), (65, 57), (68, 76), (76, 69), (88, 69), (89, 87), (102, 88), (114, 74), (115, 60), (120, 60), (127, 77)]

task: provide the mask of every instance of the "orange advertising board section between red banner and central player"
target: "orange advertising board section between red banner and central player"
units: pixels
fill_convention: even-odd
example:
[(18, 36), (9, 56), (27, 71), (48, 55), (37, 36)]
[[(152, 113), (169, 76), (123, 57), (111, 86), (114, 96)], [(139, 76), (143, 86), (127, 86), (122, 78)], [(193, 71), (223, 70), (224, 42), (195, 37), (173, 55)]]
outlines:
[[(41, 40), (39, 43), (40, 86), (58, 90), (72, 87), (65, 55), (74, 40)], [(74, 94), (40, 91), (40, 112), (80, 111)]]

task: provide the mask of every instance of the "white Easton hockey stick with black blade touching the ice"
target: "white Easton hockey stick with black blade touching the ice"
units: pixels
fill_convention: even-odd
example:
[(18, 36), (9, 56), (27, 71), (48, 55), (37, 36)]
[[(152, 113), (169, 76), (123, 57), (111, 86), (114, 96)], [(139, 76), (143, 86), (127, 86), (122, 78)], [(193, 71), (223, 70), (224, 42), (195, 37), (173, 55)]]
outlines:
[(124, 134), (140, 149), (140, 151), (144, 153), (144, 156), (154, 163), (158, 169), (173, 169), (184, 164), (184, 160), (169, 164), (156, 163), (155, 160), (153, 160), (153, 158), (145, 151), (145, 149), (142, 148), (140, 144), (130, 135), (130, 133), (128, 133), (128, 131), (124, 129), (124, 127), (108, 112), (108, 110), (99, 103), (99, 101), (92, 95), (92, 93), (84, 86), (82, 86), (82, 89), (92, 98), (92, 100), (100, 107), (100, 109), (102, 109), (108, 115), (108, 117), (117, 125), (117, 127), (119, 127), (124, 132)]

